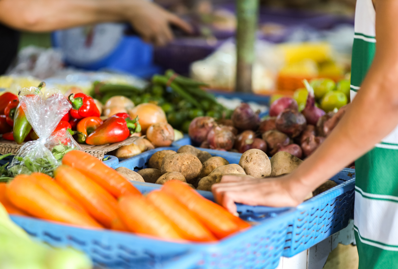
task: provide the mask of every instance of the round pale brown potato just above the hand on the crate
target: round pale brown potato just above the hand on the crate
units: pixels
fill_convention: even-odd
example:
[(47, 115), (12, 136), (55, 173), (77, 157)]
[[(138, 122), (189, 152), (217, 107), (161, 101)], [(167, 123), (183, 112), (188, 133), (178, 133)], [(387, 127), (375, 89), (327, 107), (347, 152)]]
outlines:
[(240, 157), (239, 165), (246, 175), (253, 177), (268, 177), (271, 174), (271, 162), (265, 152), (257, 148), (247, 150)]

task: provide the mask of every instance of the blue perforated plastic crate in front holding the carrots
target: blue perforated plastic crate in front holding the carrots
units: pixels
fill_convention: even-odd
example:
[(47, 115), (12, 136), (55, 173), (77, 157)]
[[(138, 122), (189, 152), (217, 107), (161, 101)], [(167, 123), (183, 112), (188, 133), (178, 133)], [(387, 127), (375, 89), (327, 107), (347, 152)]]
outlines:
[[(160, 185), (133, 182), (142, 193)], [(205, 197), (213, 198), (210, 192)], [(95, 265), (109, 268), (152, 269), (273, 269), (281, 257), (288, 222), (295, 209), (261, 209), (238, 205), (240, 216), (258, 222), (252, 228), (218, 242), (169, 242), (133, 233), (90, 230), (36, 218), (12, 216), (31, 236), (55, 247), (72, 246), (87, 253)]]

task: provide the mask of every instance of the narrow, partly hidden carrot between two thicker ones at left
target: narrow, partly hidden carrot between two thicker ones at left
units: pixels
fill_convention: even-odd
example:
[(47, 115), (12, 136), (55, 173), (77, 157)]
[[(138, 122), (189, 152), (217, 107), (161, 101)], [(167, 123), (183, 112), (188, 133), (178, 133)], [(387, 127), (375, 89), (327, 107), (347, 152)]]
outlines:
[(82, 212), (82, 214), (88, 214), (87, 211), (84, 210), (84, 208), (64, 189), (62, 189), (62, 187), (57, 182), (55, 182), (55, 180), (49, 175), (46, 175), (45, 173), (32, 173), (30, 176), (31, 180), (33, 180), (36, 184), (42, 187), (59, 202), (73, 207), (77, 211)]

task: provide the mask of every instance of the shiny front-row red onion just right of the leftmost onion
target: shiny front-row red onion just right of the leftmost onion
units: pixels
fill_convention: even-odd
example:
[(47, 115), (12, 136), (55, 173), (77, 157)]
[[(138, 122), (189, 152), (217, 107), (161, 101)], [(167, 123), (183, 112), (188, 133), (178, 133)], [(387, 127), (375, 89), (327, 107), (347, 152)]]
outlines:
[(207, 142), (211, 149), (230, 150), (234, 146), (235, 135), (227, 126), (216, 126), (207, 134)]

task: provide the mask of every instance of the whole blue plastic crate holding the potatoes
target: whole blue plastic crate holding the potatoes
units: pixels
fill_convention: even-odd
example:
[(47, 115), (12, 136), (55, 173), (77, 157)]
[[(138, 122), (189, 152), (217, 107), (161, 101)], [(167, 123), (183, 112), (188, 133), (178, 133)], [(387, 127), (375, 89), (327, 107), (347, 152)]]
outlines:
[[(176, 144), (177, 142), (179, 144)], [(159, 150), (178, 150), (180, 146), (190, 144), (190, 138), (185, 137), (177, 142), (174, 143), (175, 147), (156, 148), (119, 162), (115, 168), (123, 166), (135, 171), (147, 168), (148, 160), (154, 152)], [(207, 148), (200, 149), (209, 152), (212, 156), (225, 158), (230, 164), (238, 164), (242, 155), (235, 152), (223, 152)], [(283, 256), (292, 257), (347, 227), (349, 219), (353, 217), (355, 170), (344, 168), (331, 180), (338, 185), (297, 207), (297, 217), (289, 222)], [(156, 184), (150, 185), (156, 186)], [(209, 192), (199, 192), (208, 199), (212, 197)], [(250, 208), (255, 209), (258, 214), (261, 213), (261, 210), (268, 210), (267, 207)]]

